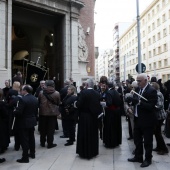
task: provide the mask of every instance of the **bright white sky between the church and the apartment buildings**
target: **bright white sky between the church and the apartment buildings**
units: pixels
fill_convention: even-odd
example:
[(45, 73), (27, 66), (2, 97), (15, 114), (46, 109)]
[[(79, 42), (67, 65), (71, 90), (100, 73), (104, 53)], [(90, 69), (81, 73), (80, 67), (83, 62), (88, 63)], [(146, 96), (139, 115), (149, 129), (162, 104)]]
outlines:
[[(106, 50), (113, 47), (113, 28), (118, 22), (136, 20), (137, 0), (96, 0), (95, 4), (95, 47)], [(142, 13), (154, 0), (138, 0)]]

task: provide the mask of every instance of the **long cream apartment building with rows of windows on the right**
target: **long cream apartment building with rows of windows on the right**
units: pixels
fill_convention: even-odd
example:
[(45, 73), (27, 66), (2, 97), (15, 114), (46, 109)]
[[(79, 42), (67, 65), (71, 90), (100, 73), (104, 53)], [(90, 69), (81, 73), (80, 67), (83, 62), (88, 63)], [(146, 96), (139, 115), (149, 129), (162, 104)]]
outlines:
[[(154, 0), (140, 16), (141, 62), (146, 73), (165, 82), (170, 79), (170, 0)], [(136, 78), (137, 23), (119, 39), (120, 80)]]

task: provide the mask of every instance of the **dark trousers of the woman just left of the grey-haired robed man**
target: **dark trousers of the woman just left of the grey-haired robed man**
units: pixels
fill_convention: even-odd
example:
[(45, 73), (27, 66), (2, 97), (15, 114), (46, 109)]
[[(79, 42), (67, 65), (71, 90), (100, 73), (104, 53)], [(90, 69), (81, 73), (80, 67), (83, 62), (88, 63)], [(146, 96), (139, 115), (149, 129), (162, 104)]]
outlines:
[(68, 137), (71, 142), (75, 141), (75, 126), (76, 123), (74, 120), (65, 120), (67, 123), (67, 132), (68, 132)]

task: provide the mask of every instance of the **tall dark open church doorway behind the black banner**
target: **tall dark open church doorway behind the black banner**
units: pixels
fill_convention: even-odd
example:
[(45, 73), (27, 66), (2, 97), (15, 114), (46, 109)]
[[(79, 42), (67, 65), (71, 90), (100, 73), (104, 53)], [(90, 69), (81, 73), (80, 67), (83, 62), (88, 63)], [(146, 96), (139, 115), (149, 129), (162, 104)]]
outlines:
[(56, 88), (64, 79), (65, 16), (34, 6), (12, 6), (12, 75), (26, 75), (26, 62), (47, 68), (45, 79), (56, 77)]

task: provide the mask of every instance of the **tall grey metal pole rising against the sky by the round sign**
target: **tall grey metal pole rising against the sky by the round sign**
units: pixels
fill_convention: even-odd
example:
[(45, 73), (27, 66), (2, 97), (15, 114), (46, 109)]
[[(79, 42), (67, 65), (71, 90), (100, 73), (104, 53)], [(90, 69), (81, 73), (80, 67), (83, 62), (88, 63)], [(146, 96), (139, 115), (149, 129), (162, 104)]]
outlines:
[(137, 35), (138, 35), (138, 73), (141, 71), (141, 46), (140, 46), (140, 16), (139, 16), (139, 0), (136, 0), (137, 8)]

